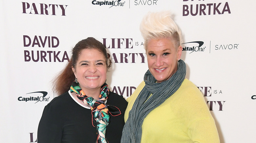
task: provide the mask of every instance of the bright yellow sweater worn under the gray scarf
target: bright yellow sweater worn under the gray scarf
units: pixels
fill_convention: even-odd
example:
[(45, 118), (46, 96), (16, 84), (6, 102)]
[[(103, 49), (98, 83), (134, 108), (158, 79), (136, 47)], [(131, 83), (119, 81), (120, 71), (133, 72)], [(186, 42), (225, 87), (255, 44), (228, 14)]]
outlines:
[[(139, 92), (139, 84), (127, 98), (126, 122)], [(151, 111), (142, 124), (141, 143), (219, 143), (215, 121), (201, 91), (185, 79), (181, 87), (164, 103)]]

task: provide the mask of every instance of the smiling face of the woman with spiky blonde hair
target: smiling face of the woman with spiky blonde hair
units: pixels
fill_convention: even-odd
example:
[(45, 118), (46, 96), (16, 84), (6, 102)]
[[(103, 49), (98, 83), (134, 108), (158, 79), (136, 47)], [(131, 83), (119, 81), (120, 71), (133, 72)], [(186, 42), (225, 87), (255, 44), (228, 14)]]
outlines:
[(175, 47), (172, 39), (149, 40), (146, 47), (148, 69), (157, 82), (169, 79), (177, 71), (182, 47)]

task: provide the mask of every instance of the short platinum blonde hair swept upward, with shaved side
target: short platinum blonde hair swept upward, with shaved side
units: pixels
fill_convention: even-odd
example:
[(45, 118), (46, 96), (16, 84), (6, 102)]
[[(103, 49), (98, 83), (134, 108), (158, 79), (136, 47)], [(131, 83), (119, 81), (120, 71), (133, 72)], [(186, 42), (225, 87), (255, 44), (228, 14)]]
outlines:
[(170, 11), (149, 12), (140, 24), (140, 32), (146, 49), (149, 40), (171, 38), (177, 48), (181, 45), (181, 31), (172, 20)]

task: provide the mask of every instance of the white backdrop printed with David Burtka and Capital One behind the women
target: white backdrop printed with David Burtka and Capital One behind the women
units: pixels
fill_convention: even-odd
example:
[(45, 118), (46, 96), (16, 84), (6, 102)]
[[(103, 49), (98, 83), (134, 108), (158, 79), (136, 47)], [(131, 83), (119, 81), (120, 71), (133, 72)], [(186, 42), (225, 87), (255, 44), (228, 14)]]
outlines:
[(221, 143), (255, 142), (254, 0), (1, 0), (0, 140), (37, 142), (52, 81), (87, 37), (107, 48), (107, 83), (129, 97), (147, 71), (142, 17), (170, 10), (181, 29), (186, 78), (201, 91)]

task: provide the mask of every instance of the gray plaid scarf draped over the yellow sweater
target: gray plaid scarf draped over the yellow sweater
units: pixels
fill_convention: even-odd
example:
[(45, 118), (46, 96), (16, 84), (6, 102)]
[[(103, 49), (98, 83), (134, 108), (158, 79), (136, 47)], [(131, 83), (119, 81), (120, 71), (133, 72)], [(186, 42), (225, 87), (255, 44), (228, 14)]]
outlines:
[[(135, 100), (128, 119), (124, 125), (121, 143), (140, 143), (141, 126), (145, 117), (175, 93), (186, 75), (186, 64), (178, 61), (178, 70), (166, 81), (156, 83), (156, 79), (148, 70), (144, 75), (145, 87)], [(152, 96), (149, 98), (150, 94)]]

